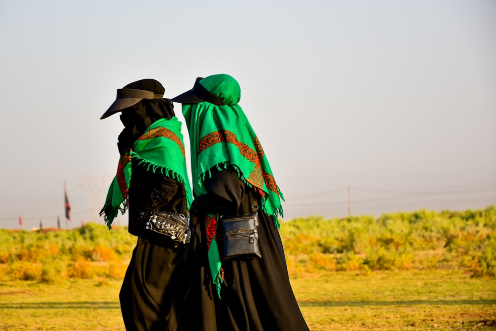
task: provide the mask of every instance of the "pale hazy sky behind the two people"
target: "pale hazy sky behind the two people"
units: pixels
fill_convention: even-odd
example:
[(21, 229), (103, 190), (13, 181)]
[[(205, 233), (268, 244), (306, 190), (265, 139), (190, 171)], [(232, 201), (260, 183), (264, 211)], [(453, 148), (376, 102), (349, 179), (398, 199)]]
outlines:
[(352, 215), (496, 204), (494, 0), (0, 0), (0, 49), (0, 228), (64, 227), (64, 181), (68, 227), (104, 224), (116, 90), (216, 73), (241, 85), (284, 220), (347, 216), (348, 192)]

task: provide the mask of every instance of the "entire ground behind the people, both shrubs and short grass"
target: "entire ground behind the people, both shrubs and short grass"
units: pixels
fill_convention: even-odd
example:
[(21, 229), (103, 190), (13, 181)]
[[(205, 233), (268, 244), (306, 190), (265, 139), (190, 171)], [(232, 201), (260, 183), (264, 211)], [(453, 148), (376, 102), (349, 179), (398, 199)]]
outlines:
[[(280, 229), (312, 331), (496, 330), (496, 207), (297, 218)], [(0, 331), (124, 330), (136, 238), (0, 229)]]

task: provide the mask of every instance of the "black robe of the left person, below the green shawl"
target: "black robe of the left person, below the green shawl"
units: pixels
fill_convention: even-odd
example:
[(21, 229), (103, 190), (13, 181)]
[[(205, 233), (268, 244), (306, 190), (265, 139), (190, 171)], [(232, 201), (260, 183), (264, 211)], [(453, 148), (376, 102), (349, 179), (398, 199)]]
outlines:
[(129, 232), (136, 247), (119, 295), (126, 330), (177, 330), (189, 280), (187, 247), (143, 231), (150, 214), (166, 210), (187, 214), (184, 186), (132, 161), (129, 184)]

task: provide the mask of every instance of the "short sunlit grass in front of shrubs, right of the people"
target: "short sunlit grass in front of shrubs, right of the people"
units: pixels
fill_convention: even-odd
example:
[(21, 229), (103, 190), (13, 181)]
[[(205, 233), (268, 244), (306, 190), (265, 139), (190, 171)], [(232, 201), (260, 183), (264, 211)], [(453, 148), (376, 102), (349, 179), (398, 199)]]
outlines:
[(494, 278), (452, 270), (334, 272), (292, 284), (310, 330), (496, 328)]

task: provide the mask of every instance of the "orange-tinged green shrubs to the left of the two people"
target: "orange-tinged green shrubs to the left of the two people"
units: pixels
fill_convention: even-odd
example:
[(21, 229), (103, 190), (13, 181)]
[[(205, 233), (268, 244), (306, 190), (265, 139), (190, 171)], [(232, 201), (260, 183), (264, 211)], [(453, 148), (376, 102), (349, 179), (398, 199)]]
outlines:
[(72, 230), (0, 230), (0, 279), (55, 283), (63, 277), (122, 277), (136, 237), (87, 223)]

